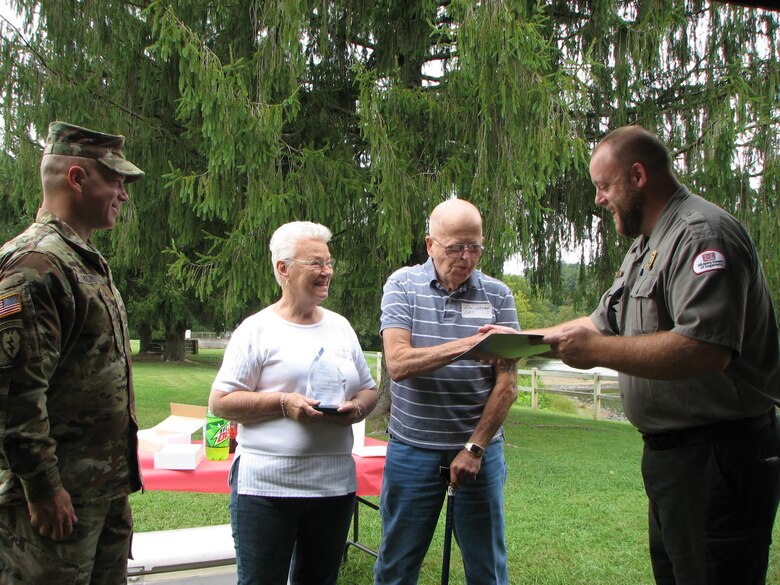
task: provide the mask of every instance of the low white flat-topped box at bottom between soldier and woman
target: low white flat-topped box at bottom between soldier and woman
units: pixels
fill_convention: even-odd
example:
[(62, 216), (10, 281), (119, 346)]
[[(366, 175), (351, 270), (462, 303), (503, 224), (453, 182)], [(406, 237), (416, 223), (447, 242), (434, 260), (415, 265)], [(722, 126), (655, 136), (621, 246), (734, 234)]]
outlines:
[(128, 583), (235, 585), (236, 550), (230, 524), (133, 535)]

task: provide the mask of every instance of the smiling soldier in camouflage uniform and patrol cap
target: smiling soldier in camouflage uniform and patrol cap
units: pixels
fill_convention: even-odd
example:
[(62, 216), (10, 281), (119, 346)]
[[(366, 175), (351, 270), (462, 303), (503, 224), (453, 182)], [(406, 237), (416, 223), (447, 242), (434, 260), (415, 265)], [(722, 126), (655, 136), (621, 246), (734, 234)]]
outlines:
[(54, 122), (35, 222), (0, 248), (0, 584), (125, 583), (141, 488), (130, 342), (90, 241), (143, 171)]

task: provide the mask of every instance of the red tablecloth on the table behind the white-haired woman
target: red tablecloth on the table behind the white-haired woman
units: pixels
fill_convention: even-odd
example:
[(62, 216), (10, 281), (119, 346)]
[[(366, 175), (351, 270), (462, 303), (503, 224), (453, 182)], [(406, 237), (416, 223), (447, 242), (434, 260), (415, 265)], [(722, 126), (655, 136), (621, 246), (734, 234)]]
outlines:
[[(383, 445), (383, 441), (366, 437), (366, 445)], [(233, 463), (231, 454), (226, 461), (209, 461), (205, 457), (194, 470), (155, 469), (154, 453), (138, 451), (141, 460), (144, 489), (149, 491), (170, 490), (177, 492), (206, 492), (229, 494), (228, 471)], [(382, 488), (384, 457), (355, 458), (359, 496), (378, 496)]]

